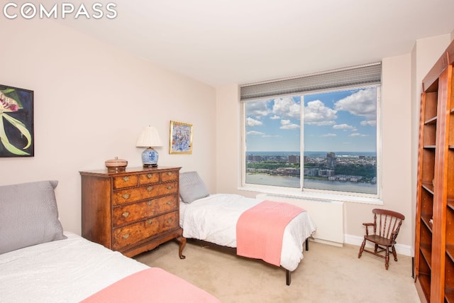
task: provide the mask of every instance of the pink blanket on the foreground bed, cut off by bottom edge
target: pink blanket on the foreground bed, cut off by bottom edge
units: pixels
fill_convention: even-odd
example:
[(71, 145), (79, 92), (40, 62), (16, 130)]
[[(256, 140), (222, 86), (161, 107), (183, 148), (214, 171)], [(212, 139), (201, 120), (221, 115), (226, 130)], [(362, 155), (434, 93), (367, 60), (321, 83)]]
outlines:
[(208, 292), (160, 268), (148, 268), (124, 277), (84, 299), (83, 303), (216, 302)]

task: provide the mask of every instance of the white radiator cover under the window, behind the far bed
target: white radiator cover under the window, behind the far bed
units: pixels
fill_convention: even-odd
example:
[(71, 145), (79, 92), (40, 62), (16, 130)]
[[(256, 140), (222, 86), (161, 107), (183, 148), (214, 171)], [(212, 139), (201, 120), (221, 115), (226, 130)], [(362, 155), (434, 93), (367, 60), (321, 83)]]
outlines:
[(343, 245), (343, 202), (277, 194), (258, 194), (256, 198), (287, 202), (306, 209), (317, 227), (312, 234), (314, 241), (335, 246)]

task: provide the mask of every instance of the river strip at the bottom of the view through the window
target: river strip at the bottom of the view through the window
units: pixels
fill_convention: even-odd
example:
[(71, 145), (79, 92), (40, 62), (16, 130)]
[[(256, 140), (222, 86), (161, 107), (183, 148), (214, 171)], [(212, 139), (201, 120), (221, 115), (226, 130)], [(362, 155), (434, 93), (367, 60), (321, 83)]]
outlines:
[[(275, 176), (267, 174), (247, 174), (246, 183), (272, 185), (280, 187), (299, 188), (299, 177)], [(341, 182), (341, 181), (323, 181), (323, 180), (304, 180), (304, 188), (308, 189), (325, 189), (338, 192), (360, 192), (363, 194), (377, 194), (377, 184), (361, 182)]]

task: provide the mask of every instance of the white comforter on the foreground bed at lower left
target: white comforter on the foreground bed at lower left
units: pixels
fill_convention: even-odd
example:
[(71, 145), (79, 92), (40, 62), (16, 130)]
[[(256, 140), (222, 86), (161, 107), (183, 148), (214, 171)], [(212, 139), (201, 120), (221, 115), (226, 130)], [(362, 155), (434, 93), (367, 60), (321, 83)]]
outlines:
[(65, 235), (0, 254), (0, 302), (80, 302), (149, 268), (74, 233)]

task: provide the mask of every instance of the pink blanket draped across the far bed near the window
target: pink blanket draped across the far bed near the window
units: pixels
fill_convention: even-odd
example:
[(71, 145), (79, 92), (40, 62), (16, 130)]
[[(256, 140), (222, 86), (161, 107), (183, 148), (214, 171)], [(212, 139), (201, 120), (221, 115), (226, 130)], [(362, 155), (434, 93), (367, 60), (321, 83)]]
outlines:
[(284, 229), (303, 211), (292, 204), (263, 201), (243, 212), (236, 224), (237, 255), (279, 266)]

